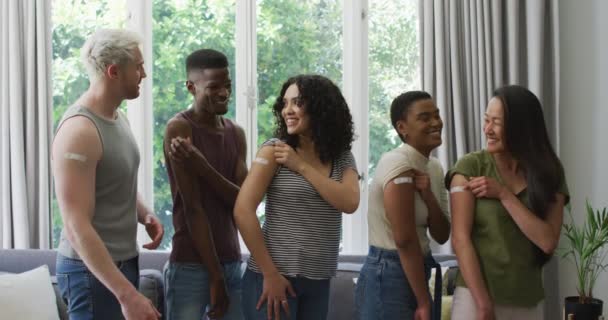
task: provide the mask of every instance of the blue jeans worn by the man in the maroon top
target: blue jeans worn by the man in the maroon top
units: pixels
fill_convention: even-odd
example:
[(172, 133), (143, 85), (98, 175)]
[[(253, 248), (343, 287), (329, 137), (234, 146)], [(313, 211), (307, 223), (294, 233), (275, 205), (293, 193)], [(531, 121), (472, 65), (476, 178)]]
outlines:
[[(222, 319), (243, 319), (241, 311), (241, 262), (222, 264), (230, 306)], [(169, 263), (165, 276), (167, 320), (200, 320), (210, 307), (209, 273), (198, 263)]]

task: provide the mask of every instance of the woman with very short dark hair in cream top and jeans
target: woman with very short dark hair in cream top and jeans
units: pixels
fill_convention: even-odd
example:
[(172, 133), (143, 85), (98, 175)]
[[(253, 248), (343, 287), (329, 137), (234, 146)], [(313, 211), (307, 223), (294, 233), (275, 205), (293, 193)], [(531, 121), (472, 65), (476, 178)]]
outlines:
[(391, 122), (403, 144), (382, 155), (370, 185), (370, 248), (357, 281), (355, 318), (430, 320), (427, 282), (436, 262), (427, 230), (439, 243), (450, 235), (443, 168), (431, 157), (443, 122), (424, 91), (395, 98)]

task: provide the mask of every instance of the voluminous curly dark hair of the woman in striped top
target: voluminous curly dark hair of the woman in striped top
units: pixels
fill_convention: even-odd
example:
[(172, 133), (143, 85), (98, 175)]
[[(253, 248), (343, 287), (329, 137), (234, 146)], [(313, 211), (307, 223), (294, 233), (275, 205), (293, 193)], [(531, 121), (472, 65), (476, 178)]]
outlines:
[(312, 141), (321, 162), (328, 163), (349, 151), (354, 140), (350, 110), (340, 89), (320, 75), (298, 75), (283, 84), (281, 94), (272, 107), (276, 121), (275, 137), (294, 149), (299, 145), (298, 136), (287, 133), (287, 125), (281, 115), (285, 91), (292, 84), (298, 86), (299, 101), (310, 116)]

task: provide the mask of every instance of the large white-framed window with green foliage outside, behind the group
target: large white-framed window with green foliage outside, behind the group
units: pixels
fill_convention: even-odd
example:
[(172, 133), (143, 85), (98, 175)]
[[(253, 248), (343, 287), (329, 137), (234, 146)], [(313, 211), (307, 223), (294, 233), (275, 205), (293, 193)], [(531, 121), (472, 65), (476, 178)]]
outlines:
[[(214, 48), (228, 56), (234, 87), (227, 116), (245, 129), (248, 161), (273, 134), (272, 105), (285, 80), (302, 73), (332, 79), (351, 107), (353, 153), (368, 179), (382, 153), (400, 144), (390, 123), (392, 99), (420, 86), (416, 6), (416, 0), (53, 0), (54, 120), (88, 86), (78, 54), (87, 36), (100, 27), (142, 34), (149, 78), (142, 96), (127, 103), (128, 116), (142, 156), (139, 189), (165, 225), (161, 248), (170, 249), (162, 138), (167, 121), (192, 102), (184, 65), (190, 52)], [(344, 253), (367, 250), (364, 182), (358, 212), (344, 218)], [(53, 200), (55, 245), (61, 226)]]

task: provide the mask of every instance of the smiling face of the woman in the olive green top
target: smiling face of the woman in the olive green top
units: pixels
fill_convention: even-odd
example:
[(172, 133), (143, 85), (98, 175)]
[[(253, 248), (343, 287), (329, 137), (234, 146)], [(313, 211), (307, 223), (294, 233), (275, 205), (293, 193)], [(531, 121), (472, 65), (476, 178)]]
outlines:
[(505, 141), (505, 108), (502, 101), (494, 97), (488, 103), (484, 118), (483, 133), (486, 136), (486, 148), (490, 153), (506, 151)]

